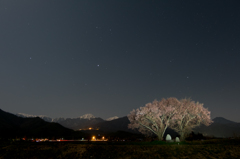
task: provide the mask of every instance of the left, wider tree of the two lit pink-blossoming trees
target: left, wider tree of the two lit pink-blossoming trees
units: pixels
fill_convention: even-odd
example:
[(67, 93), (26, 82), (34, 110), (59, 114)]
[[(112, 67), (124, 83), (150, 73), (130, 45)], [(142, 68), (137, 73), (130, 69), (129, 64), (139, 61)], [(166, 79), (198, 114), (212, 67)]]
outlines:
[(180, 104), (179, 100), (171, 97), (163, 98), (161, 101), (154, 100), (152, 103), (147, 103), (145, 107), (133, 109), (128, 115), (130, 121), (128, 128), (138, 129), (146, 135), (153, 133), (162, 140), (170, 121), (176, 120), (176, 108), (180, 107)]

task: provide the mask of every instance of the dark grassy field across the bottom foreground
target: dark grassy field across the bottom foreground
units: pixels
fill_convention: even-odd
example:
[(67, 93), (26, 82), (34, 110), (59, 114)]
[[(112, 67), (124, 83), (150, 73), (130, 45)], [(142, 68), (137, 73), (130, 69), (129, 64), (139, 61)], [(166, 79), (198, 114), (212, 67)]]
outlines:
[(1, 142), (0, 158), (240, 158), (239, 139), (165, 142)]

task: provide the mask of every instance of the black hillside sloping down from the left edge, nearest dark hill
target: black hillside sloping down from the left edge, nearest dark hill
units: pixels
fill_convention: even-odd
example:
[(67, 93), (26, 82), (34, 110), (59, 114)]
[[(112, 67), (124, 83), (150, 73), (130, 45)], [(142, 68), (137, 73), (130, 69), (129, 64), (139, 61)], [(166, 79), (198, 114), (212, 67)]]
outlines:
[[(78, 132), (80, 133), (80, 132)], [(79, 135), (58, 123), (35, 118), (22, 118), (0, 109), (0, 138), (16, 137), (71, 137)]]

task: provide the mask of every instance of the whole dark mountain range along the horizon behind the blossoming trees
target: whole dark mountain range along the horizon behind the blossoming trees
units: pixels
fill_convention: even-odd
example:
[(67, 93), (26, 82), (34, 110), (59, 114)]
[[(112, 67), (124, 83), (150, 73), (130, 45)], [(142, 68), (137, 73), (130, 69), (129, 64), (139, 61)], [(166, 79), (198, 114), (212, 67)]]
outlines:
[[(230, 121), (223, 117), (213, 119), (210, 126), (201, 125), (193, 129), (195, 133), (201, 133), (204, 136), (213, 137), (233, 137), (240, 136), (240, 123)], [(127, 116), (117, 118), (111, 121), (102, 118), (67, 118), (59, 119), (58, 123), (46, 122), (39, 117), (22, 118), (11, 113), (4, 112), (0, 109), (0, 136), (74, 136), (79, 129), (93, 128), (101, 132), (117, 132), (124, 131), (128, 133), (138, 133), (138, 130), (128, 128), (130, 121)], [(67, 127), (67, 128), (65, 128)], [(73, 129), (73, 130), (72, 130)], [(164, 136), (170, 134), (172, 137), (178, 134), (167, 128)], [(79, 135), (79, 134), (78, 134)]]

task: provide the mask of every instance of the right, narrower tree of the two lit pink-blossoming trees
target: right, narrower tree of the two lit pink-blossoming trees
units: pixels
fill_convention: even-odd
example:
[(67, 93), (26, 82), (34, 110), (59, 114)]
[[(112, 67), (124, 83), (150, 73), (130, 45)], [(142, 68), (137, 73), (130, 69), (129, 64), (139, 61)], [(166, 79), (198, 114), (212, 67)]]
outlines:
[(175, 106), (177, 113), (169, 127), (177, 131), (180, 140), (183, 141), (193, 128), (200, 124), (209, 126), (213, 121), (210, 118), (210, 111), (204, 108), (202, 103), (195, 103), (191, 99), (182, 99), (180, 103)]

